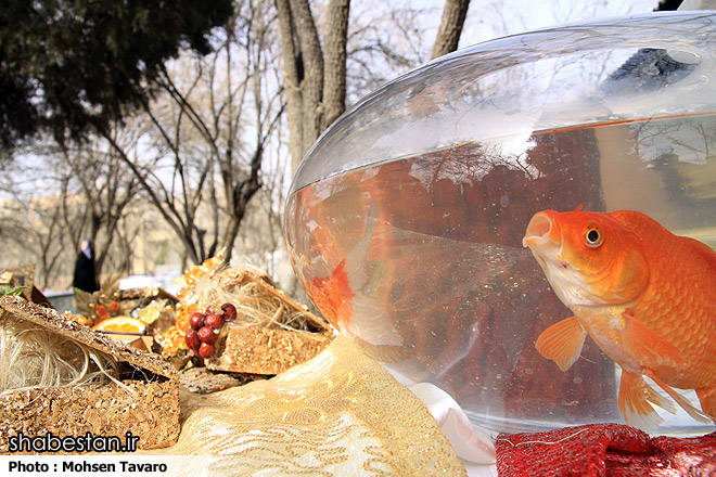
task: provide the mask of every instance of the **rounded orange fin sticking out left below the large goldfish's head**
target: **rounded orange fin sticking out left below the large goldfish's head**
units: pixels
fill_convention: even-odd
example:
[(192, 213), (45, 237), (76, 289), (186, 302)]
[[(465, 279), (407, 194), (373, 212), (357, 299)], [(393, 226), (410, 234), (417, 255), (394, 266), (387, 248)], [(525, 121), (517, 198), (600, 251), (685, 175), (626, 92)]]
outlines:
[(539, 353), (566, 371), (579, 358), (587, 333), (576, 317), (567, 318), (545, 330), (535, 347)]

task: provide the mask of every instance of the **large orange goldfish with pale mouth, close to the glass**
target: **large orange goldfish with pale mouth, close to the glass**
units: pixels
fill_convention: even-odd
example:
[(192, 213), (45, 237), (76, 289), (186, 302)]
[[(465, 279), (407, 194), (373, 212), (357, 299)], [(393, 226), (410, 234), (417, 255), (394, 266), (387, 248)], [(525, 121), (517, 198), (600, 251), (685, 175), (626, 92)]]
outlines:
[[(545, 330), (539, 353), (566, 371), (586, 336), (622, 368), (618, 409), (644, 430), (675, 413), (716, 421), (716, 253), (632, 210), (533, 216), (522, 240), (574, 313)], [(694, 389), (701, 410), (675, 390)]]

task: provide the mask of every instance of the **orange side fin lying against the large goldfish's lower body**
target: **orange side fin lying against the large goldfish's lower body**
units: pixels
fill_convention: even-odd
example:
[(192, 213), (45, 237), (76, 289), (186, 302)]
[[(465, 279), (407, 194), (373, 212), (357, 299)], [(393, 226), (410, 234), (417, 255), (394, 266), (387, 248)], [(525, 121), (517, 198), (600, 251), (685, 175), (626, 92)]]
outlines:
[(625, 327), (622, 331), (624, 347), (644, 368), (668, 365), (680, 369), (686, 365), (683, 353), (662, 335), (637, 320), (630, 311), (623, 313)]

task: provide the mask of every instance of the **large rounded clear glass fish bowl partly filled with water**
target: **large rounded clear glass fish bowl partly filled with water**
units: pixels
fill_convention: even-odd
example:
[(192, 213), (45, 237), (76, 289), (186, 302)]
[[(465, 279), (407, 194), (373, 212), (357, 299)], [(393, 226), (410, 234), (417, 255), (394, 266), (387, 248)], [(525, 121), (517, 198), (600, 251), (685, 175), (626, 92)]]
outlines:
[[(301, 284), (475, 425), (623, 422), (619, 366), (594, 341), (566, 372), (536, 350), (573, 313), (522, 238), (534, 214), (581, 206), (716, 247), (715, 53), (716, 13), (654, 13), (487, 41), (384, 85), (296, 171), (285, 236)], [(660, 414), (660, 434), (714, 429)]]

